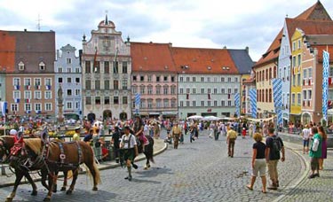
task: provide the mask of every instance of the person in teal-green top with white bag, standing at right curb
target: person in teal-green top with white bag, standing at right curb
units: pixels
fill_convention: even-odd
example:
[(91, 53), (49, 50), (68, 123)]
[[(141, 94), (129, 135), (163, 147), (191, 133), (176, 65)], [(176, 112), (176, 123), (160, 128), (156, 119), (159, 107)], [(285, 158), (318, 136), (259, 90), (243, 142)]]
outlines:
[(313, 127), (313, 142), (311, 144), (310, 154), (311, 157), (310, 164), (311, 164), (311, 171), (312, 174), (309, 176), (309, 179), (312, 179), (319, 175), (319, 159), (321, 158), (321, 144), (322, 144), (322, 137), (318, 133), (318, 128)]

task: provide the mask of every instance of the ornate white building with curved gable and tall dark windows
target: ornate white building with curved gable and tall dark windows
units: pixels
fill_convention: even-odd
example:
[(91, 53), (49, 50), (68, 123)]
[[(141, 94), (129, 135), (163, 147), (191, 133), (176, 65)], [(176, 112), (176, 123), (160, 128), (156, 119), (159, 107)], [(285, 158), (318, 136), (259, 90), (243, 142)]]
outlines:
[[(129, 40), (128, 40), (129, 41)], [(83, 35), (83, 116), (88, 120), (131, 119), (131, 47), (107, 20)]]

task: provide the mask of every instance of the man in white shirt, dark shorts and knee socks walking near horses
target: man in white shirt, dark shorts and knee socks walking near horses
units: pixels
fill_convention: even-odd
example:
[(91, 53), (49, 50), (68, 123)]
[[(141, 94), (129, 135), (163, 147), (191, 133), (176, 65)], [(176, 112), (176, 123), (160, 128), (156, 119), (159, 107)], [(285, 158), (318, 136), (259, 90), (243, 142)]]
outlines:
[(138, 147), (135, 136), (131, 134), (131, 128), (129, 126), (124, 127), (124, 135), (120, 141), (120, 148), (123, 149), (123, 160), (126, 160), (126, 166), (129, 172), (129, 175), (125, 177), (125, 179), (131, 181), (131, 162), (138, 156)]

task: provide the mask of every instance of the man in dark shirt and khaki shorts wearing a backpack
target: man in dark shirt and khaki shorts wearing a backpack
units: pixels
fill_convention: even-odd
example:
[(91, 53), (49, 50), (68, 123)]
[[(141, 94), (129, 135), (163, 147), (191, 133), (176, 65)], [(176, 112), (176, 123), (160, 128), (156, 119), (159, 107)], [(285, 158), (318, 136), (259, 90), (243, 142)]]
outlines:
[[(274, 135), (274, 128), (268, 128), (268, 136), (266, 137), (266, 162), (268, 165), (268, 174), (272, 184), (268, 186), (268, 190), (277, 190), (279, 187), (279, 175), (277, 165), (279, 160), (285, 160), (285, 152), (283, 141), (280, 136)], [(282, 157), (281, 154), (282, 153)]]

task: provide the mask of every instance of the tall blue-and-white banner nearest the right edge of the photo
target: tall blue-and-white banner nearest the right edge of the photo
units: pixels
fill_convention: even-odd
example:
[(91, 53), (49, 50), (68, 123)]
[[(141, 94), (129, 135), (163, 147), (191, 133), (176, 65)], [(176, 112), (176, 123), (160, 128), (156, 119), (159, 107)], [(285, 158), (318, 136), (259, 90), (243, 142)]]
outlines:
[(327, 121), (329, 100), (329, 52), (322, 52), (322, 119)]

